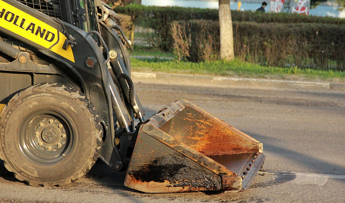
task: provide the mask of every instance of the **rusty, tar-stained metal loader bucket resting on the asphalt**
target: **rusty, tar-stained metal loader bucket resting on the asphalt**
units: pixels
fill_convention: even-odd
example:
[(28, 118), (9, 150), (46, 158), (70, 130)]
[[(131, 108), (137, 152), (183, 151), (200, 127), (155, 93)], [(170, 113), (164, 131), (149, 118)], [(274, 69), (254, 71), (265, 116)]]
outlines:
[(263, 145), (186, 100), (139, 128), (125, 186), (147, 193), (244, 190), (265, 155)]

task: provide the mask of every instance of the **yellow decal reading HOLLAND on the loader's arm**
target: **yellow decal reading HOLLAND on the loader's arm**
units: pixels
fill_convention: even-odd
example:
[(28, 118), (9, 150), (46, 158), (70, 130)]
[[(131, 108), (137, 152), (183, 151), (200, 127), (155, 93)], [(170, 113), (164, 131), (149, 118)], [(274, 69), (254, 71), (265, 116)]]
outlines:
[(0, 28), (7, 29), (72, 61), (72, 48), (62, 46), (67, 39), (56, 28), (0, 0)]

